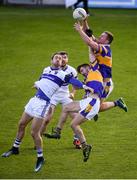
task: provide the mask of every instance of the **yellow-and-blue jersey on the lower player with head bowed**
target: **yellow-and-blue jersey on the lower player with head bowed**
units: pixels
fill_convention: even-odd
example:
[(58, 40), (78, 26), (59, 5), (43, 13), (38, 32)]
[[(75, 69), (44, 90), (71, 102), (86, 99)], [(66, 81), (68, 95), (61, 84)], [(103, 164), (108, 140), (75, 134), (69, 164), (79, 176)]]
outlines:
[(85, 84), (94, 89), (94, 93), (101, 98), (103, 93), (103, 77), (98, 70), (89, 71)]

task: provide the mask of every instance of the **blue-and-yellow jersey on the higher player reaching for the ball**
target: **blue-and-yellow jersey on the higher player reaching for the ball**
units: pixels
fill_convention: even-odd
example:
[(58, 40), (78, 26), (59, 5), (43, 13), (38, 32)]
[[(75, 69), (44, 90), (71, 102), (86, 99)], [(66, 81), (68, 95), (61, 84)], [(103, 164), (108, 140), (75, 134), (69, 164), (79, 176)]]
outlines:
[(99, 63), (99, 71), (103, 78), (112, 77), (112, 52), (110, 45), (99, 44), (99, 50), (96, 52), (96, 59)]

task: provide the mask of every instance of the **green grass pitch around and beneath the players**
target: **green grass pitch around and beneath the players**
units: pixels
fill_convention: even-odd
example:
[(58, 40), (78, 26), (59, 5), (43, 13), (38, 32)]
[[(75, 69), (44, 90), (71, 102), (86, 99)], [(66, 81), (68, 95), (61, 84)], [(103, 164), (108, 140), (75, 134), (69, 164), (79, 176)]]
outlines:
[[(72, 145), (68, 119), (62, 138), (43, 138), (46, 163), (33, 171), (36, 152), (27, 127), (20, 155), (0, 157), (1, 179), (135, 179), (137, 178), (137, 10), (90, 9), (89, 24), (99, 36), (113, 32), (114, 91), (109, 100), (123, 97), (129, 111), (114, 108), (100, 113), (98, 122), (82, 125), (93, 152), (87, 163), (82, 151)], [(18, 120), (31, 88), (51, 54), (65, 50), (69, 64), (88, 62), (88, 51), (73, 29), (72, 10), (65, 8), (0, 7), (0, 154), (8, 150), (16, 136)], [(82, 91), (76, 95), (81, 98)], [(59, 106), (48, 131), (55, 126)]]

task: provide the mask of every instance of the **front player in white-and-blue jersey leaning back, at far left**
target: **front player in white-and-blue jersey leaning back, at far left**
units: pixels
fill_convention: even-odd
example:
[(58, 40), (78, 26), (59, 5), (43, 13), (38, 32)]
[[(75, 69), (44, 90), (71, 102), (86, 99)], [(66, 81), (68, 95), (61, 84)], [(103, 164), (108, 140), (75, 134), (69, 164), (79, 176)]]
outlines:
[(64, 83), (71, 83), (79, 88), (92, 90), (90, 87), (83, 85), (83, 83), (81, 83), (79, 80), (73, 78), (72, 75), (68, 75), (60, 69), (62, 56), (59, 53), (55, 53), (52, 56), (51, 62), (54, 64), (54, 70), (50, 71), (49, 73), (42, 74), (41, 79), (35, 82), (37, 92), (25, 106), (25, 110), (19, 121), (18, 131), (13, 146), (9, 151), (2, 154), (2, 157), (9, 157), (12, 154), (19, 154), (19, 147), (25, 134), (25, 128), (32, 120), (31, 135), (37, 151), (37, 161), (34, 169), (35, 172), (38, 172), (44, 164), (40, 128), (42, 125), (42, 120), (49, 110), (50, 99), (53, 94)]

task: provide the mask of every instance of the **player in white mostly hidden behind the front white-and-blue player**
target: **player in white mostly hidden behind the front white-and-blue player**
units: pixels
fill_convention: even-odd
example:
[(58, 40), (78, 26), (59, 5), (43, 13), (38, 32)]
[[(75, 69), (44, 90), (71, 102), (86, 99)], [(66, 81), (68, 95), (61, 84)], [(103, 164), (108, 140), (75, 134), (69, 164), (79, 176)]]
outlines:
[[(62, 56), (62, 70), (67, 72), (67, 73), (71, 73), (73, 75), (73, 77), (77, 77), (77, 71), (72, 67), (68, 65), (68, 54), (64, 51), (59, 52)], [(48, 71), (49, 68), (45, 68), (44, 71)], [(51, 98), (51, 106), (50, 106), (50, 113), (46, 116), (46, 118), (43, 121), (42, 127), (41, 127), (41, 135), (44, 134), (47, 138), (54, 138), (54, 139), (60, 139), (61, 137), (61, 130), (64, 126), (64, 123), (67, 120), (68, 117), (68, 113), (64, 113), (63, 111), (61, 112), (61, 116), (59, 118), (59, 121), (56, 125), (55, 128), (52, 128), (52, 132), (51, 134), (49, 133), (44, 133), (48, 123), (50, 122), (53, 113), (55, 111), (55, 108), (58, 104), (62, 105), (62, 108), (64, 107), (64, 105), (69, 104), (70, 102), (72, 102), (72, 99), (74, 98), (76, 89), (74, 86), (72, 86), (72, 91), (71, 93), (69, 92), (69, 87), (68, 84), (63, 84), (59, 90), (53, 95), (53, 97)], [(74, 112), (69, 113), (69, 116), (73, 119), (75, 116)], [(74, 135), (74, 140), (73, 140), (73, 144), (75, 145), (75, 147), (77, 149), (81, 148), (80, 145), (80, 141), (77, 137), (77, 135)]]

